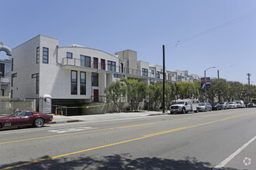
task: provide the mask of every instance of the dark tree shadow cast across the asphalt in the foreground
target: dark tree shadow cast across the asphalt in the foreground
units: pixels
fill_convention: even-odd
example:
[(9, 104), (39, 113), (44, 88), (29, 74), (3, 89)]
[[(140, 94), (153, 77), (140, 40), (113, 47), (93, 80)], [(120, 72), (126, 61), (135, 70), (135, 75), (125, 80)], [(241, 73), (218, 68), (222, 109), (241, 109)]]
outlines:
[[(44, 156), (39, 159), (50, 158)], [(39, 160), (37, 159), (37, 160)], [(0, 169), (21, 165), (27, 162), (15, 162), (9, 165), (1, 165)], [(129, 154), (109, 155), (109, 156), (92, 156), (92, 157), (78, 157), (78, 158), (60, 158), (50, 159), (43, 162), (37, 162), (30, 165), (23, 165), (21, 167), (12, 169), (161, 169), (161, 170), (210, 170), (213, 168), (209, 162), (199, 162), (196, 158), (187, 157), (185, 160), (174, 160), (166, 158), (132, 158)], [(223, 168), (223, 170), (236, 170), (235, 168)]]

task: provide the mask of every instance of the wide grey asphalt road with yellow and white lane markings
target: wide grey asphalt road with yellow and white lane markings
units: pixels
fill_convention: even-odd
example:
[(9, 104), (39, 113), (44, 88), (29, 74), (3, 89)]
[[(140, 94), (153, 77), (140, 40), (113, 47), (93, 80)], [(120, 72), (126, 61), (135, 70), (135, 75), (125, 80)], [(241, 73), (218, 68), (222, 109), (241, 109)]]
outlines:
[(0, 169), (256, 169), (256, 109), (0, 131)]

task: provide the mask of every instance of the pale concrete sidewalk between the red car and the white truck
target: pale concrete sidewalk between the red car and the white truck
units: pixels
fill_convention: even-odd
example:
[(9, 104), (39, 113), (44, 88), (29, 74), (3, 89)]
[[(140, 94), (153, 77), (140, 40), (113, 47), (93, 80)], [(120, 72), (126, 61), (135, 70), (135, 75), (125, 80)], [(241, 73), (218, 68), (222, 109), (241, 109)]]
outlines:
[[(168, 114), (166, 111), (164, 114)], [(93, 114), (93, 115), (81, 115), (81, 116), (61, 116), (54, 115), (53, 121), (49, 124), (62, 124), (71, 123), (78, 121), (106, 121), (106, 120), (117, 120), (124, 118), (133, 117), (147, 117), (163, 115), (162, 111), (141, 111), (141, 112), (126, 112), (126, 113), (112, 113), (112, 114)]]

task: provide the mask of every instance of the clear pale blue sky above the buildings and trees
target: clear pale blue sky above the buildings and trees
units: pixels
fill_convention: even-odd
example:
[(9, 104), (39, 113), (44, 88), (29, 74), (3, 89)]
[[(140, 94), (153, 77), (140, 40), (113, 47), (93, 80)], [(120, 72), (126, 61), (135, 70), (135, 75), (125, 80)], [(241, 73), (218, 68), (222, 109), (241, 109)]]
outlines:
[(247, 83), (251, 73), (256, 84), (254, 0), (0, 2), (0, 42), (11, 49), (41, 34), (59, 39), (60, 46), (78, 44), (112, 55), (132, 49), (138, 60), (162, 65), (164, 45), (167, 70), (204, 76), (216, 66), (206, 76), (217, 77), (219, 70), (220, 78)]

